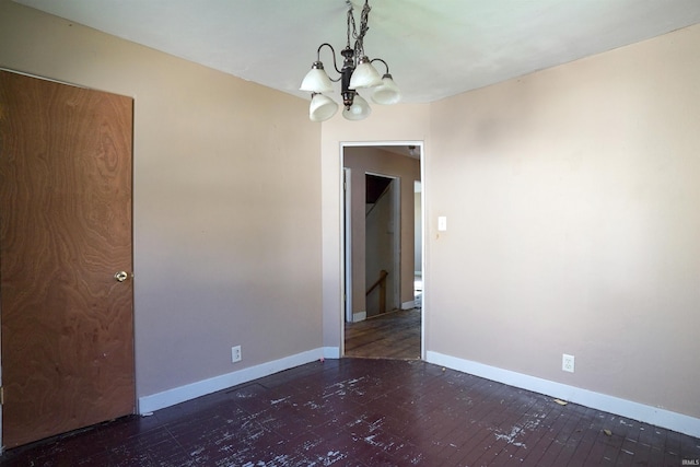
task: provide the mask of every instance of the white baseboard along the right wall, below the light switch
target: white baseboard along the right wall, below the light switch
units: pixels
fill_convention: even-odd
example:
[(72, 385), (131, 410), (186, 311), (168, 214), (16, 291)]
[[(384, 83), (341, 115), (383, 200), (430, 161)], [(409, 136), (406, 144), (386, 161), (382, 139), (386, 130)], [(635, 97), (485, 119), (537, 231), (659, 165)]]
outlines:
[(546, 394), (562, 400), (568, 400), (596, 410), (603, 410), (620, 417), (650, 423), (655, 427), (677, 431), (690, 436), (700, 437), (700, 419), (685, 416), (682, 413), (672, 412), (670, 410), (660, 409), (644, 404), (621, 399), (619, 397), (594, 393), (592, 390), (581, 389), (579, 387), (512, 372), (510, 370), (502, 370), (495, 366), (489, 366), (482, 363), (458, 359), (438, 352), (429, 351), (425, 357), (425, 360), (429, 363), (434, 363), (452, 370), (469, 373), (475, 376), (504, 383), (510, 386)]

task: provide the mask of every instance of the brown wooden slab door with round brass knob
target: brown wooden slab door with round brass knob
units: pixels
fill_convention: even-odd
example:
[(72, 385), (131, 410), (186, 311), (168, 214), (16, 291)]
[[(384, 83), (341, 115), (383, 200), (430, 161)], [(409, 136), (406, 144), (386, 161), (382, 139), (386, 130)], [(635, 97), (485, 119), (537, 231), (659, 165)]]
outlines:
[(5, 447), (135, 411), (132, 114), (0, 70)]

